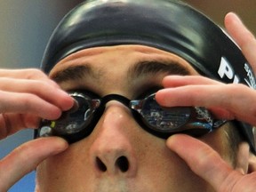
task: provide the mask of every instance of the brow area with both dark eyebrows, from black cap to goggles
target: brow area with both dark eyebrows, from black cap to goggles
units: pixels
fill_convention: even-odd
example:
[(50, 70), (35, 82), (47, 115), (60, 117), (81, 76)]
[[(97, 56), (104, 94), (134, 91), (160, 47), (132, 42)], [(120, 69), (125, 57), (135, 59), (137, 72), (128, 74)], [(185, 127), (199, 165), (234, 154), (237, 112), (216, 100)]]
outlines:
[(114, 89), (142, 85), (142, 82), (160, 84), (164, 76), (172, 74), (197, 73), (186, 60), (170, 52), (144, 45), (117, 45), (75, 52), (60, 60), (52, 68), (50, 77), (62, 87), (65, 85), (64, 89), (90, 85), (92, 89), (93, 84), (104, 89), (111, 88), (111, 93), (120, 93)]

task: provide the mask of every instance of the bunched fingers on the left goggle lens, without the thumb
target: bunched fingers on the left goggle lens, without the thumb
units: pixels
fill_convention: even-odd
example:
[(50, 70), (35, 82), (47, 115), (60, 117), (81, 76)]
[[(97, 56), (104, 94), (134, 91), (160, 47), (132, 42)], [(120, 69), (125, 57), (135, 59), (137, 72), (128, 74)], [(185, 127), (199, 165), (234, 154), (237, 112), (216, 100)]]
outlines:
[(74, 100), (37, 69), (0, 69), (0, 139), (25, 127), (35, 128), (39, 118), (56, 119)]

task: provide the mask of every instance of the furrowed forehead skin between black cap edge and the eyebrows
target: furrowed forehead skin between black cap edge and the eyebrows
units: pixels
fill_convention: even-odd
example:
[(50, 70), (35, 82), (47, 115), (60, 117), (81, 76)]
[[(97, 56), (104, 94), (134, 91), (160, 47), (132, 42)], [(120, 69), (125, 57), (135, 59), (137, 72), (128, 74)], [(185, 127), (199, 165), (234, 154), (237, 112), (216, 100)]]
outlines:
[[(194, 68), (192, 68), (186, 60), (183, 60), (178, 55), (171, 52), (164, 52), (162, 50), (144, 45), (116, 45), (84, 49), (82, 51), (75, 52), (69, 55), (67, 58), (60, 60), (60, 62), (57, 63), (54, 68), (52, 68), (50, 76), (75, 65), (84, 65), (85, 63), (86, 65), (90, 65), (92, 63), (95, 67), (97, 64), (98, 67), (111, 67), (114, 66), (116, 62), (107, 63), (107, 60), (127, 62), (127, 59), (129, 59), (131, 62), (143, 60), (159, 60), (163, 62), (172, 61), (179, 63), (183, 68), (187, 68), (191, 71), (194, 70)], [(132, 63), (130, 64), (132, 65)], [(120, 62), (119, 66), (124, 68), (124, 64), (122, 65)]]

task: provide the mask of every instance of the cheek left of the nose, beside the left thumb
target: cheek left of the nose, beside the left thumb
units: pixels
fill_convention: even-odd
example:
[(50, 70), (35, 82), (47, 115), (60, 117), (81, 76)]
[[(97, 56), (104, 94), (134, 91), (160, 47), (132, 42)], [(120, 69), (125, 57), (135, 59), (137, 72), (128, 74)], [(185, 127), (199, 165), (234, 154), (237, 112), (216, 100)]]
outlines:
[(91, 190), (88, 187), (92, 183), (93, 172), (89, 169), (88, 154), (86, 154), (89, 148), (83, 145), (81, 150), (82, 146), (78, 143), (38, 165), (36, 180), (40, 192), (83, 191), (84, 186), (87, 186), (88, 191)]

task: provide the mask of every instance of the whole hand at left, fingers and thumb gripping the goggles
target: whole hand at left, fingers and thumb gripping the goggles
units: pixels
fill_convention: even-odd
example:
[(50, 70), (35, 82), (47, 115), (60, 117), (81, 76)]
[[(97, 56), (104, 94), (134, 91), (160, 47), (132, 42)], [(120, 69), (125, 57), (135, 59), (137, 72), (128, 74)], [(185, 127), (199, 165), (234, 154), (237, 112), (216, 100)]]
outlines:
[[(0, 69), (0, 138), (36, 128), (40, 118), (56, 119), (74, 100), (37, 69)], [(60, 138), (31, 140), (0, 160), (0, 191), (7, 191), (37, 164), (68, 148)]]

